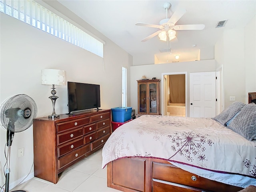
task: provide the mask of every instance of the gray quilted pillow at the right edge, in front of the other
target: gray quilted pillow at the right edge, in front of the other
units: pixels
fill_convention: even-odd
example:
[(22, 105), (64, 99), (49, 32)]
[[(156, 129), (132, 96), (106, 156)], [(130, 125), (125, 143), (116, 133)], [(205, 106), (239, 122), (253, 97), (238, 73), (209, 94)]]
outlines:
[(256, 139), (256, 104), (250, 103), (244, 106), (228, 128), (249, 141)]

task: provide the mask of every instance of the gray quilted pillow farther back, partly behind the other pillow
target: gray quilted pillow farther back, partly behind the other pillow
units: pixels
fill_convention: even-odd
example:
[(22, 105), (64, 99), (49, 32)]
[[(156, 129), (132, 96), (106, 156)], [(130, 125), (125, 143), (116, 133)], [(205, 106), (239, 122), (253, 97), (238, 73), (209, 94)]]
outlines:
[(246, 104), (242, 102), (234, 102), (228, 108), (223, 110), (220, 114), (216, 115), (213, 119), (220, 122), (222, 125), (227, 126), (226, 123), (232, 119)]

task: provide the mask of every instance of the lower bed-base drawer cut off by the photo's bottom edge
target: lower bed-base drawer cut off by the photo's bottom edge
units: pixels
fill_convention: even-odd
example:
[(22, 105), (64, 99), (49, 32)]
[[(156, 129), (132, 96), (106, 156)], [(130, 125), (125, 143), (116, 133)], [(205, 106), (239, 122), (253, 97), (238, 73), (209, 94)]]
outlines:
[(200, 191), (200, 192), (202, 192), (204, 190), (190, 187), (190, 186), (180, 185), (180, 184), (176, 184), (176, 183), (152, 179), (152, 192), (167, 192), (167, 191), (170, 191), (170, 192), (181, 192), (181, 191), (182, 192), (198, 192), (198, 191)]

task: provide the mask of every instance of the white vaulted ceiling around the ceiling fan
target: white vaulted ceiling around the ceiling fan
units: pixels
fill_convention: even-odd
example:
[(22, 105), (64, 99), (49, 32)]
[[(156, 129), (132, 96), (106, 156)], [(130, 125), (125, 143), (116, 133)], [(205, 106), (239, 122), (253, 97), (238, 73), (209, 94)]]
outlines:
[[(134, 63), (148, 57), (153, 64), (156, 54), (160, 63), (197, 60), (201, 50), (214, 51), (214, 44), (221, 38), (223, 30), (244, 27), (256, 12), (256, 0), (58, 0), (88, 24), (96, 28), (134, 58)], [(158, 36), (141, 42), (157, 28), (136, 26), (137, 22), (159, 24), (166, 18), (163, 4), (171, 3), (168, 18), (180, 8), (186, 13), (178, 20), (180, 24), (204, 24), (204, 30), (178, 30), (172, 40), (172, 54), (161, 53), (170, 48), (170, 42), (159, 40)], [(223, 28), (215, 28), (219, 21), (228, 20)], [(239, 37), (238, 37), (239, 38)], [(192, 47), (192, 45), (196, 47)], [(180, 55), (179, 60), (174, 56)], [(207, 58), (207, 56), (205, 56)], [(212, 58), (208, 58), (212, 59)]]

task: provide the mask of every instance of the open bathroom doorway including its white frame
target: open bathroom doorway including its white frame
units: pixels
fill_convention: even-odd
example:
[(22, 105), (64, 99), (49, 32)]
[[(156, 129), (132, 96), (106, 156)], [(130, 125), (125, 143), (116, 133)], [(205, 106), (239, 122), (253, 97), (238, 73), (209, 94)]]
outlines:
[(162, 114), (187, 116), (187, 72), (162, 74)]

